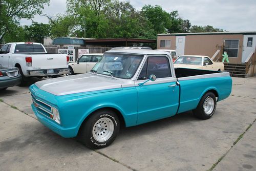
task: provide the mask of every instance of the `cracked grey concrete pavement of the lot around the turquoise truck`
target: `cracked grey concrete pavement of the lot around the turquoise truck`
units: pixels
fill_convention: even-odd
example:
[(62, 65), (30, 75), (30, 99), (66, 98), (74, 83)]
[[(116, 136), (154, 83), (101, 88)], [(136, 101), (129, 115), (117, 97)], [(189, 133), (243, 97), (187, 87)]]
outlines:
[(0, 91), (0, 170), (256, 170), (256, 77), (232, 80), (211, 119), (186, 112), (123, 128), (98, 150), (37, 121), (29, 85)]

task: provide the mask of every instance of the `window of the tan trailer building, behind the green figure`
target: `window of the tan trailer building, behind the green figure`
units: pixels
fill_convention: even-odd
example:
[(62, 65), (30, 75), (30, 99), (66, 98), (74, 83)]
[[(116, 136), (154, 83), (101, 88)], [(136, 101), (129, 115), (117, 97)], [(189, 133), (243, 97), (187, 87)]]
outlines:
[(224, 39), (223, 45), (228, 57), (238, 57), (239, 39)]

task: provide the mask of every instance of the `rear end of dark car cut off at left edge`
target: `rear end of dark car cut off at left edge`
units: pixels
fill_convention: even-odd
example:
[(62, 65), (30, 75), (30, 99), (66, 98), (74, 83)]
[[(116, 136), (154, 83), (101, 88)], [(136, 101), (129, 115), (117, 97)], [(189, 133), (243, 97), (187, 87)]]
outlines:
[(17, 68), (0, 67), (0, 90), (20, 84), (22, 76)]

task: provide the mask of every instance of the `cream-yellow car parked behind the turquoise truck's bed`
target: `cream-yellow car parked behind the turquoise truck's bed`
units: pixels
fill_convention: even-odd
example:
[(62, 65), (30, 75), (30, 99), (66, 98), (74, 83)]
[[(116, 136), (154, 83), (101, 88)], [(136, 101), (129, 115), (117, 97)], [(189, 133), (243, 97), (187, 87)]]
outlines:
[(223, 62), (214, 62), (208, 56), (200, 55), (179, 56), (179, 58), (174, 62), (174, 67), (224, 71)]

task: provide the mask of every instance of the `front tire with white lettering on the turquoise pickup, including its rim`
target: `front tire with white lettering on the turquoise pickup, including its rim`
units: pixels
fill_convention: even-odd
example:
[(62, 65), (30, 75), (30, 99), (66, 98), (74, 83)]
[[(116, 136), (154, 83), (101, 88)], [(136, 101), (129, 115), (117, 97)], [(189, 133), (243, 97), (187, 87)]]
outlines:
[(94, 149), (110, 145), (119, 132), (118, 116), (111, 110), (94, 112), (83, 122), (78, 139)]

